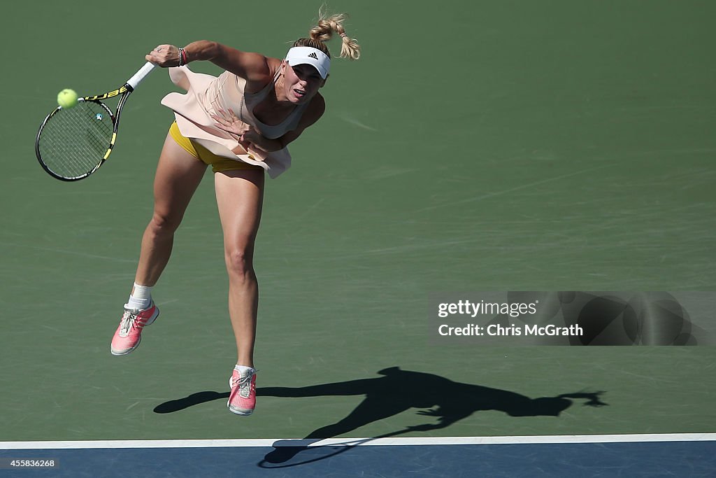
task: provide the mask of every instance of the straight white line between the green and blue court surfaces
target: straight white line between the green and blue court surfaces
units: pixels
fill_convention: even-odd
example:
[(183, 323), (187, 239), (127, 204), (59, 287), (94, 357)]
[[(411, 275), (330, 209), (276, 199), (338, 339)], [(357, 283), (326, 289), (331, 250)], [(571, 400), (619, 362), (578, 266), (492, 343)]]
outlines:
[(231, 440), (94, 440), (0, 441), (0, 450), (92, 448), (216, 448), (273, 446), (420, 446), (562, 443), (630, 443), (646, 441), (716, 441), (716, 433), (547, 436), (437, 436), (414, 438), (231, 439)]

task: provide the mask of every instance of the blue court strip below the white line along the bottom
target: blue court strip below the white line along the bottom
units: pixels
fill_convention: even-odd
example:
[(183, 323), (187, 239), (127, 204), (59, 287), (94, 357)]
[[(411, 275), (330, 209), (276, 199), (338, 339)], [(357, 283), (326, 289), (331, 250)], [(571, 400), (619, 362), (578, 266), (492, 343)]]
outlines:
[[(650, 436), (654, 439), (654, 436)], [(540, 437), (505, 437), (506, 441)], [(541, 437), (547, 438), (547, 437)], [(566, 437), (569, 441), (570, 437)], [(574, 438), (574, 437), (572, 437)], [(583, 437), (584, 438), (584, 437)], [(13, 477), (713, 477), (716, 436), (589, 443), (178, 446), (3, 449)], [(558, 437), (554, 437), (558, 439)], [(633, 439), (633, 438), (632, 438)], [(658, 438), (657, 438), (658, 439)], [(457, 439), (470, 441), (470, 437)], [(599, 436), (594, 437), (595, 441)], [(445, 443), (438, 439), (438, 443)], [(480, 441), (474, 438), (472, 441)], [(271, 442), (260, 440), (256, 442)], [(179, 443), (179, 442), (178, 442)], [(263, 443), (261, 443), (263, 445)], [(125, 446), (132, 446), (125, 444)], [(54, 469), (9, 469), (8, 459), (54, 460)]]

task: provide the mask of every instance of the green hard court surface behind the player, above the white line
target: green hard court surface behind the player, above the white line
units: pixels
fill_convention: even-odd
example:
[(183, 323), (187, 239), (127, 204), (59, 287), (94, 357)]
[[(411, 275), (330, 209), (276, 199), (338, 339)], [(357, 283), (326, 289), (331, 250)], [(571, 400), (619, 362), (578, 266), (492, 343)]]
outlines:
[[(476, 406), (421, 430), (436, 419), (416, 401), (340, 437), (715, 430), (715, 348), (442, 346), (427, 312), (434, 292), (715, 290), (714, 4), (332, 2), (363, 56), (334, 60), (326, 115), (266, 185), (249, 419), (226, 410), (235, 345), (211, 178), (153, 292), (162, 314), (135, 352), (110, 355), (173, 118), (159, 104), (175, 90), (166, 71), (127, 102), (90, 178), (47, 176), (34, 137), (59, 90), (116, 87), (156, 44), (213, 39), (281, 57), (320, 5), (226, 2), (223, 16), (183, 0), (119, 5), (16, 3), (0, 19), (0, 441), (303, 438), (365, 394), (271, 389), (393, 367), (475, 386), (465, 401), (601, 391), (607, 406), (575, 399), (558, 417)], [(432, 383), (407, 381), (385, 399)]]

